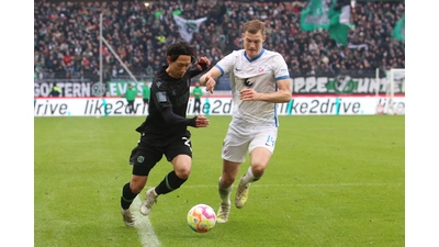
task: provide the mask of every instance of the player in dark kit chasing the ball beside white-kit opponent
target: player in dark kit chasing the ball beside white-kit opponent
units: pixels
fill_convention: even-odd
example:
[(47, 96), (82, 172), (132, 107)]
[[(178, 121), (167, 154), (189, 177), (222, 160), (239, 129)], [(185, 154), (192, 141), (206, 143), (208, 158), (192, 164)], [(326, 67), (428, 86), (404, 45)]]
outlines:
[[(135, 226), (136, 220), (130, 211), (134, 199), (142, 192), (149, 171), (160, 161), (162, 155), (172, 164), (173, 170), (164, 180), (146, 191), (140, 213), (148, 215), (160, 194), (169, 193), (183, 184), (191, 172), (192, 144), (188, 126), (206, 127), (209, 120), (203, 115), (187, 119), (191, 78), (205, 71), (211, 61), (200, 57), (194, 63), (194, 48), (185, 41), (178, 40), (167, 49), (168, 65), (154, 77), (150, 88), (148, 116), (136, 128), (140, 133), (137, 146), (132, 150), (133, 165), (131, 181), (123, 186), (121, 214), (126, 226)], [(191, 67), (194, 63), (194, 67)], [(213, 91), (214, 83), (206, 85)]]

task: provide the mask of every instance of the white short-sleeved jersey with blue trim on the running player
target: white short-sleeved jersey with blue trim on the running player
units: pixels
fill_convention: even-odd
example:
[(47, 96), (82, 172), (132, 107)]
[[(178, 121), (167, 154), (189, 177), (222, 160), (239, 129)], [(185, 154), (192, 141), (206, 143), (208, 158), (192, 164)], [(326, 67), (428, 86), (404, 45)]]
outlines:
[(275, 81), (290, 78), (282, 55), (263, 49), (250, 59), (245, 49), (234, 50), (216, 64), (222, 76), (228, 74), (233, 96), (233, 120), (230, 127), (250, 133), (255, 130), (278, 127), (275, 103), (263, 101), (241, 101), (239, 91), (251, 88), (257, 92), (278, 91)]

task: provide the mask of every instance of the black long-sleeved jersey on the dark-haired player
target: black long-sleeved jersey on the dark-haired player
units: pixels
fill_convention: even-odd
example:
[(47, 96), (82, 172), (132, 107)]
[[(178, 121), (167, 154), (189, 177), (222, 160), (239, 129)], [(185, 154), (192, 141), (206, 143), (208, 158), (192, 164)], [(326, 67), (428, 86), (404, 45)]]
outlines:
[(187, 119), (191, 78), (199, 75), (198, 69), (189, 70), (182, 78), (172, 78), (164, 66), (154, 77), (150, 87), (148, 116), (136, 128), (145, 133), (142, 142), (169, 144), (180, 138), (188, 131), (188, 125), (194, 126), (194, 119)]

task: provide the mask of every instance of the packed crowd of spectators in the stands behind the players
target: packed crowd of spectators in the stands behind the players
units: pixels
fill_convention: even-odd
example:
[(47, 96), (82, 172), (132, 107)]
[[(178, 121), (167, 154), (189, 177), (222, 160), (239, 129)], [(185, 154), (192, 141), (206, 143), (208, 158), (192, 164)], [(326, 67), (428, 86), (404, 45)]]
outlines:
[[(198, 56), (212, 64), (241, 48), (241, 24), (266, 22), (263, 47), (282, 54), (291, 77), (374, 75), (375, 69), (405, 67), (405, 43), (392, 37), (404, 2), (357, 2), (351, 12), (348, 45), (336, 44), (327, 31), (300, 29), (306, 1), (144, 1), (34, 2), (35, 79), (99, 80), (100, 13), (104, 40), (136, 77), (153, 76), (166, 64), (166, 47), (180, 37), (172, 14), (187, 20), (207, 18), (193, 35)], [(102, 45), (104, 81), (128, 76), (112, 50)], [(354, 75), (351, 75), (354, 76)]]

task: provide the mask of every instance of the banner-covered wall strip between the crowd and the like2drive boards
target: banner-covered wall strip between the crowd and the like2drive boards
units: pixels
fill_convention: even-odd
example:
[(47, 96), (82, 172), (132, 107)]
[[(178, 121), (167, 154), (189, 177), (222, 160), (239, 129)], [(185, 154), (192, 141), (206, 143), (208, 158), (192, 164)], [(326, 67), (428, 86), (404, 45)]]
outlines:
[[(224, 78), (226, 79), (226, 78)], [(93, 97), (102, 96), (102, 91), (106, 97), (121, 97), (125, 93), (128, 83), (134, 85), (138, 96), (142, 96), (142, 87), (145, 82), (151, 80), (140, 80), (134, 82), (131, 80), (112, 80), (106, 83), (99, 82), (80, 82), (80, 81), (35, 81), (34, 97), (48, 97), (52, 87), (57, 86), (63, 90), (63, 97)], [(291, 88), (293, 94), (375, 94), (376, 90), (380, 93), (385, 93), (387, 78), (372, 77), (297, 77), (291, 78)], [(227, 85), (227, 87), (222, 87)], [(229, 81), (218, 80), (215, 90), (230, 90)], [(405, 93), (405, 78), (394, 80), (394, 93)]]

